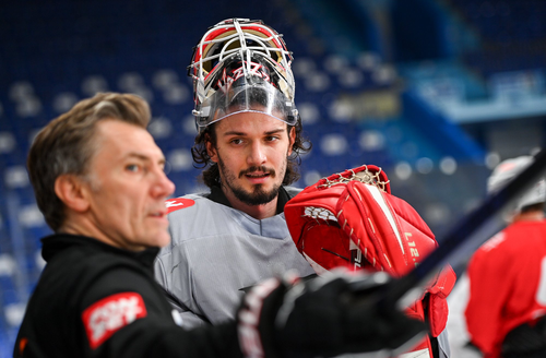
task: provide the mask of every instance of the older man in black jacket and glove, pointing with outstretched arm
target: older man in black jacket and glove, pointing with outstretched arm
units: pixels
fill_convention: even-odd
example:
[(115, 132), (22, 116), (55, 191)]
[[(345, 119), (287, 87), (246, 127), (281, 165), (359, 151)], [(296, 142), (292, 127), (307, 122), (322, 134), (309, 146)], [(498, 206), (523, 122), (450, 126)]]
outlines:
[(395, 348), (423, 330), (397, 311), (351, 303), (355, 279), (361, 287), (373, 276), (343, 274), (312, 287), (271, 279), (245, 296), (237, 321), (181, 329), (152, 272), (169, 242), (165, 199), (175, 187), (149, 120), (140, 97), (98, 94), (34, 141), (28, 171), (56, 234), (43, 239), (47, 265), (14, 357), (331, 355)]

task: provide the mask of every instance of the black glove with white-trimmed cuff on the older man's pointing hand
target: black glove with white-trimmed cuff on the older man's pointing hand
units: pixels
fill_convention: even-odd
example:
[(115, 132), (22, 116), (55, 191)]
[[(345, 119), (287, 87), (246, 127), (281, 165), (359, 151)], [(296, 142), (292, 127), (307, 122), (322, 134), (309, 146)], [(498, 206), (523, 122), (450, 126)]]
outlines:
[[(427, 326), (379, 305), (384, 273), (332, 271), (306, 283), (272, 278), (253, 287), (237, 313), (246, 357), (333, 357), (417, 343)], [(411, 347), (405, 347), (411, 348)]]

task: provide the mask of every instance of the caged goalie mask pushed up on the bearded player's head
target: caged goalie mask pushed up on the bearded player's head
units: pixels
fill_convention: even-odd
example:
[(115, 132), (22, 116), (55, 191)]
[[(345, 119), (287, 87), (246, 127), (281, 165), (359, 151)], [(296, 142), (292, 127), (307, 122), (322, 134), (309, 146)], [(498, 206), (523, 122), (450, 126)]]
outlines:
[(245, 111), (296, 124), (290, 62), (281, 35), (261, 21), (233, 19), (213, 26), (195, 47), (188, 73), (198, 131)]

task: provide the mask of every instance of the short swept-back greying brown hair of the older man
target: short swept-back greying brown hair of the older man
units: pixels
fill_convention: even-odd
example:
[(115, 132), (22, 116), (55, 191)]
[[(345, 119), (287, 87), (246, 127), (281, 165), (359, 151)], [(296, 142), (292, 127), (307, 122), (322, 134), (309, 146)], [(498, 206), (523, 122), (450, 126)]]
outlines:
[(64, 204), (55, 193), (55, 182), (61, 175), (87, 174), (88, 163), (96, 152), (93, 145), (95, 124), (110, 119), (145, 129), (150, 117), (150, 106), (136, 95), (99, 93), (79, 102), (38, 133), (26, 164), (38, 207), (54, 231), (66, 219)]

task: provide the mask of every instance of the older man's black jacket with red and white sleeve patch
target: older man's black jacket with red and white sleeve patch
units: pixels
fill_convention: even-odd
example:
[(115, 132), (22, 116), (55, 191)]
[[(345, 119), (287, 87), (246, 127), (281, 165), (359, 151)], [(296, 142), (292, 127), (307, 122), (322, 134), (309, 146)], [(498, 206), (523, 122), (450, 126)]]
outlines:
[(157, 249), (43, 239), (47, 261), (14, 357), (241, 357), (235, 323), (185, 331), (153, 277)]

